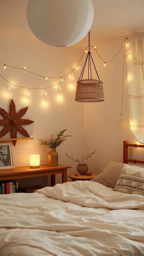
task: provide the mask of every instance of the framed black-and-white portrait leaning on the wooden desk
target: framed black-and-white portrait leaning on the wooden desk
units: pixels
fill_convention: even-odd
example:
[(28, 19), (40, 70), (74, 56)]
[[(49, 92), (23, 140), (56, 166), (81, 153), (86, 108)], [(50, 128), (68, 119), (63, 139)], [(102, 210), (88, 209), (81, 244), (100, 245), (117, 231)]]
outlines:
[(12, 142), (0, 142), (0, 170), (14, 169)]

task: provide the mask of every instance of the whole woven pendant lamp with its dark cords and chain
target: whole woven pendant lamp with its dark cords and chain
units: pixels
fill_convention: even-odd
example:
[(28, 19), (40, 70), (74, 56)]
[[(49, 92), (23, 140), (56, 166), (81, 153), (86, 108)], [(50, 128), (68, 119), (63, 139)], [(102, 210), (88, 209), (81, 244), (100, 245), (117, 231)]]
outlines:
[[(103, 91), (103, 82), (99, 79), (96, 68), (95, 68), (95, 71), (97, 73), (98, 80), (92, 79), (91, 61), (95, 68), (95, 64), (94, 64), (94, 61), (93, 61), (93, 59), (91, 57), (91, 53), (90, 53), (90, 31), (89, 31), (89, 33), (88, 33), (88, 54), (87, 54), (87, 57), (86, 57), (86, 60), (84, 63), (84, 67), (81, 71), (79, 80), (77, 81), (75, 101), (99, 102), (99, 101), (105, 100), (104, 99), (104, 91)], [(88, 62), (88, 79), (82, 79), (87, 62)]]

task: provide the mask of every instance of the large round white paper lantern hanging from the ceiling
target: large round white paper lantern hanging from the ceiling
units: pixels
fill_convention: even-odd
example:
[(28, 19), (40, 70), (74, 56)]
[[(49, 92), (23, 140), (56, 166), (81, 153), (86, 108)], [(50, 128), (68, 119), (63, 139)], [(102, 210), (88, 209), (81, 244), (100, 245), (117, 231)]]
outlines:
[(91, 28), (91, 0), (29, 0), (27, 22), (33, 34), (47, 45), (66, 47), (82, 40)]

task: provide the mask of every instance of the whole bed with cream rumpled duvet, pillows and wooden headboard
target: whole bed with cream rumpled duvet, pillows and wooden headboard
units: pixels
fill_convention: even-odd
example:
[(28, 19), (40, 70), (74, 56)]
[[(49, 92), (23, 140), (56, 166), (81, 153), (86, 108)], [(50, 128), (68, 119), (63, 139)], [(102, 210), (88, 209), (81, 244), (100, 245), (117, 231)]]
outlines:
[(0, 195), (0, 255), (144, 255), (144, 168), (131, 145), (90, 181)]

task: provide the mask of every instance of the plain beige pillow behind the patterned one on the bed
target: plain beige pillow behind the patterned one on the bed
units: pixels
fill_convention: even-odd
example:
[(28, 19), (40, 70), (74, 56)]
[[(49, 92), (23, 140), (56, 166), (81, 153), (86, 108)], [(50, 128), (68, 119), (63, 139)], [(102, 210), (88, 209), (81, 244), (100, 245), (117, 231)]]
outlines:
[[(129, 166), (135, 167), (136, 165), (132, 164)], [(118, 163), (112, 160), (108, 160), (108, 163), (106, 167), (102, 170), (102, 172), (90, 181), (95, 181), (106, 187), (114, 188), (117, 184), (119, 175), (123, 167), (124, 163)]]

